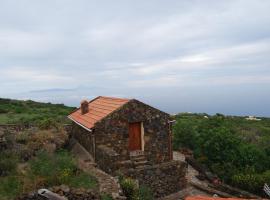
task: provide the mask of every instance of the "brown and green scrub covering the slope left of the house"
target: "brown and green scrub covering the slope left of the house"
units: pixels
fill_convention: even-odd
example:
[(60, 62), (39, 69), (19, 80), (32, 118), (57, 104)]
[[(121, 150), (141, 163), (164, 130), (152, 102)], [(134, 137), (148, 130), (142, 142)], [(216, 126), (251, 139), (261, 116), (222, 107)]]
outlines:
[(5, 132), (0, 152), (0, 199), (9, 200), (39, 188), (67, 185), (94, 188), (96, 179), (77, 169), (65, 146), (68, 136), (60, 126)]

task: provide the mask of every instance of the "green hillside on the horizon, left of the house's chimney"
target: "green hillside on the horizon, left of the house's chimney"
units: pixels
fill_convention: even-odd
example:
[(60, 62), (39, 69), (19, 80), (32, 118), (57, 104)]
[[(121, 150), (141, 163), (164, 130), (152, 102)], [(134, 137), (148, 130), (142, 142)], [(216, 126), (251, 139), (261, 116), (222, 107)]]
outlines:
[(74, 109), (64, 104), (0, 98), (0, 124), (34, 125), (46, 120), (69, 123), (66, 116)]

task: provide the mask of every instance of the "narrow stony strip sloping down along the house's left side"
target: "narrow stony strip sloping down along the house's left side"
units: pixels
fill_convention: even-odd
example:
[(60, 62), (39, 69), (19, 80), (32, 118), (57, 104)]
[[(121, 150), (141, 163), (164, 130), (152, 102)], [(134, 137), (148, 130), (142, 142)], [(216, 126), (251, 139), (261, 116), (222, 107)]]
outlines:
[(92, 156), (79, 143), (73, 145), (72, 152), (77, 158), (78, 167), (97, 178), (100, 193), (110, 194), (113, 199), (125, 199), (120, 195), (121, 188), (117, 179), (96, 168)]

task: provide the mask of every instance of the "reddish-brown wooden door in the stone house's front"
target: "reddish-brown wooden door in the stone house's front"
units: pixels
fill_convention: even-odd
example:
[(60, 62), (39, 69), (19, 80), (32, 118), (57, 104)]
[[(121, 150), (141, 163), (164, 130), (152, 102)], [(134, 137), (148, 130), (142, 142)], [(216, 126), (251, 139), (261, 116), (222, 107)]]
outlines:
[(141, 150), (141, 123), (129, 124), (129, 150)]

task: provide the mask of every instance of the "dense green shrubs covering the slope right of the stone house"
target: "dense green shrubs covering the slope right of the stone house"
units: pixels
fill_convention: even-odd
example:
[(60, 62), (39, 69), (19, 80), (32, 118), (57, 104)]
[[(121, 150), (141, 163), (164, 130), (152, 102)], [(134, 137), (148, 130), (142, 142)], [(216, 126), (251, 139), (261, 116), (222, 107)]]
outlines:
[(270, 184), (270, 119), (179, 114), (174, 149), (188, 148), (226, 183), (262, 194)]

